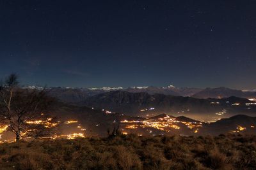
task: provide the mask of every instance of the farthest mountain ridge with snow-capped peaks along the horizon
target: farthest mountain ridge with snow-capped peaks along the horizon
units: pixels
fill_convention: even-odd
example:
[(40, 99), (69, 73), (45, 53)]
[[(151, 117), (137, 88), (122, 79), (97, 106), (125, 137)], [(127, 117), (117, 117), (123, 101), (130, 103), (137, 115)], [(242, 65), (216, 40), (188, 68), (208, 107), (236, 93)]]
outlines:
[[(29, 86), (24, 87), (28, 89), (44, 89), (43, 87)], [(147, 92), (148, 94), (164, 94), (171, 96), (183, 96), (183, 97), (195, 97), (199, 99), (207, 98), (227, 98), (231, 96), (243, 97), (247, 99), (255, 99), (256, 92), (250, 90), (234, 90), (228, 89), (226, 87), (218, 88), (206, 88), (206, 89), (196, 89), (196, 88), (179, 88), (169, 85), (168, 87), (102, 87), (102, 88), (71, 88), (71, 87), (51, 87), (47, 88), (49, 94), (53, 97), (57, 97), (61, 101), (67, 103), (81, 103), (85, 99), (97, 94), (103, 94), (112, 91), (125, 91), (131, 93)]]

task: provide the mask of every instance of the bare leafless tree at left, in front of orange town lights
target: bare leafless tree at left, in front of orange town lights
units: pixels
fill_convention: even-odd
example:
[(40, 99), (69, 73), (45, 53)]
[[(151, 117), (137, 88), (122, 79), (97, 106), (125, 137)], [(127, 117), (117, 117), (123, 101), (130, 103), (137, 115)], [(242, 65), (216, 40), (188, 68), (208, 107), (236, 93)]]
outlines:
[(0, 85), (0, 123), (8, 125), (8, 131), (15, 134), (16, 141), (24, 136), (49, 135), (58, 125), (56, 118), (45, 114), (53, 102), (45, 89), (20, 88), (17, 75), (11, 74)]

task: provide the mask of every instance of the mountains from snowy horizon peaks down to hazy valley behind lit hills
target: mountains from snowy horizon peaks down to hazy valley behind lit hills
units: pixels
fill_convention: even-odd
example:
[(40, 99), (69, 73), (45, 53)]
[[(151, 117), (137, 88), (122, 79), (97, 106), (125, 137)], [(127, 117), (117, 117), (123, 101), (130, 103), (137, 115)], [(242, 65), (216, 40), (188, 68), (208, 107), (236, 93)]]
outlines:
[[(42, 89), (42, 87), (26, 87)], [(49, 94), (67, 104), (88, 106), (109, 113), (150, 117), (161, 113), (186, 115), (213, 122), (237, 114), (255, 115), (255, 92), (168, 87), (48, 88)], [(238, 97), (237, 97), (238, 96)], [(242, 98), (243, 97), (243, 98)], [(250, 99), (250, 100), (249, 100)], [(253, 101), (254, 100), (254, 101)]]

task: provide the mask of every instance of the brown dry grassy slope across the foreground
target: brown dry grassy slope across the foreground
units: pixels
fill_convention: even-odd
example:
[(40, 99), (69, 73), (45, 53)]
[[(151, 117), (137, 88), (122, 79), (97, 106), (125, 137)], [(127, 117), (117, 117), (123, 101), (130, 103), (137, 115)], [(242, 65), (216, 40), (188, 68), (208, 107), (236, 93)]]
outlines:
[(256, 136), (115, 138), (0, 145), (0, 169), (256, 169)]

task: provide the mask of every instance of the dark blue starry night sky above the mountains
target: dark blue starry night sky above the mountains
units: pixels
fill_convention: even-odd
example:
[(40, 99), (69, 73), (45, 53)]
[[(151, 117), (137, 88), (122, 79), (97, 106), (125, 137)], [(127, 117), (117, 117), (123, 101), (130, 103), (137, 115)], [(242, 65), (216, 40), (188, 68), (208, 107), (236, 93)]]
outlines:
[(0, 1), (0, 76), (256, 89), (256, 1)]

